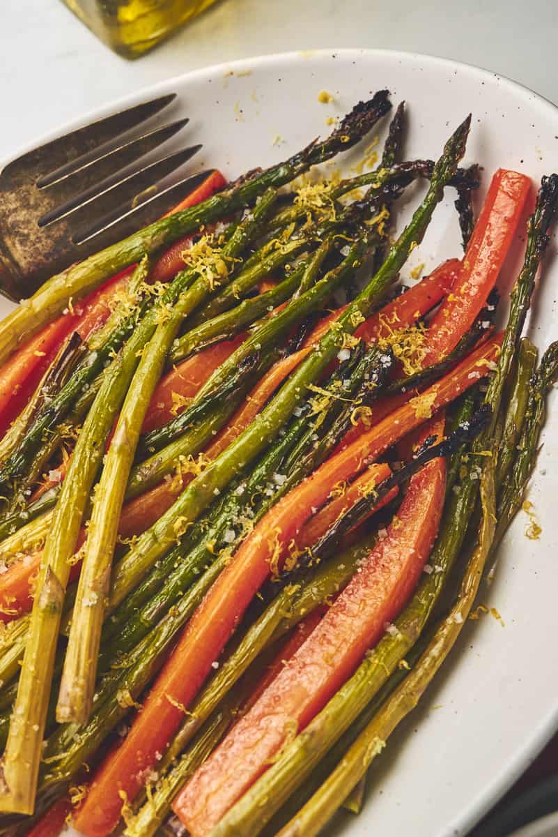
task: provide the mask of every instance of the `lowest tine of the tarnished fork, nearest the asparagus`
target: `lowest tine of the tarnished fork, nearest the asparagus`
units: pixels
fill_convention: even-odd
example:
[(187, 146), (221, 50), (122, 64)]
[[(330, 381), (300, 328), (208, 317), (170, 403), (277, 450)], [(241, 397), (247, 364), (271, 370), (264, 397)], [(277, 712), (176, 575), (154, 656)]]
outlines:
[(74, 234), (74, 244), (79, 247), (84, 246), (88, 252), (93, 252), (102, 249), (109, 242), (124, 239), (134, 230), (153, 223), (157, 218), (168, 212), (181, 198), (184, 198), (185, 194), (200, 186), (200, 183), (204, 182), (205, 178), (209, 177), (213, 171), (214, 169), (209, 169), (191, 177), (185, 177), (184, 180), (166, 187), (162, 192), (153, 195), (151, 198), (147, 198), (138, 206), (132, 206), (130, 203), (119, 206), (114, 212), (100, 218), (89, 228), (82, 229)]

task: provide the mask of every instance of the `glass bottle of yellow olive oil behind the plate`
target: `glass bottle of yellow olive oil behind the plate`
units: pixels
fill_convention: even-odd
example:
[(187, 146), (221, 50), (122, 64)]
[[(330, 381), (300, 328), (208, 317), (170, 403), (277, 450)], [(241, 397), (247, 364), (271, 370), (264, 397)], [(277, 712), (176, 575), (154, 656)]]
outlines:
[(64, 0), (125, 58), (137, 58), (216, 0)]

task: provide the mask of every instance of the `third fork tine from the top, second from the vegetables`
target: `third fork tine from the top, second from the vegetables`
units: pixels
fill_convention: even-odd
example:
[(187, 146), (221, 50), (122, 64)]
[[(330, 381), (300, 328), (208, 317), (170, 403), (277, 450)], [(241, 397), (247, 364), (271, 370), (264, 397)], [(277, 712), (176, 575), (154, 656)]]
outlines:
[(50, 223), (59, 221), (61, 218), (75, 213), (71, 223), (79, 228), (79, 224), (84, 223), (80, 214), (87, 213), (87, 218), (99, 218), (104, 216), (114, 206), (119, 206), (128, 201), (133, 201), (145, 189), (154, 187), (156, 183), (167, 177), (176, 168), (181, 166), (187, 160), (200, 151), (201, 146), (190, 146), (190, 148), (183, 148), (181, 151), (175, 151), (168, 157), (163, 157), (162, 160), (150, 163), (148, 166), (140, 168), (138, 172), (120, 177), (116, 182), (111, 182), (99, 191), (99, 187), (94, 186), (85, 192), (78, 195), (76, 198), (71, 198), (66, 203), (54, 208), (48, 213), (45, 213), (42, 218), (38, 220), (39, 227), (46, 227)]

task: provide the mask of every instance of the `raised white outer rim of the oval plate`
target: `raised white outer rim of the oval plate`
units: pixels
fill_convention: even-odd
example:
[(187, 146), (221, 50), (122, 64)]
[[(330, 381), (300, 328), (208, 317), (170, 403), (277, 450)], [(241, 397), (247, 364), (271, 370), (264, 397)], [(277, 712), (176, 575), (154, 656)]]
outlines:
[[(45, 142), (62, 136), (68, 131), (72, 131), (79, 126), (84, 126), (90, 121), (103, 118), (109, 113), (114, 113), (124, 107), (134, 105), (139, 100), (149, 100), (155, 98), (165, 92), (172, 90), (174, 85), (185, 85), (191, 81), (203, 79), (205, 76), (224, 74), (227, 72), (235, 73), (236, 70), (251, 69), (256, 71), (262, 67), (272, 66), (277, 64), (290, 64), (292, 62), (308, 62), (309, 64), (315, 60), (325, 59), (341, 59), (342, 61), (351, 61), (355, 59), (366, 58), (382, 58), (400, 62), (411, 61), (413, 63), (421, 63), (434, 65), (439, 69), (449, 69), (451, 71), (460, 71), (469, 76), (474, 76), (480, 81), (490, 81), (490, 85), (504, 85), (509, 89), (513, 95), (521, 100), (540, 107), (540, 109), (548, 114), (549, 119), (553, 119), (558, 127), (558, 104), (540, 95), (535, 90), (530, 89), (527, 85), (523, 85), (518, 81), (510, 79), (510, 77), (497, 73), (490, 69), (485, 69), (476, 64), (468, 64), (463, 61), (444, 58), (441, 56), (417, 53), (409, 50), (398, 49), (368, 49), (358, 47), (322, 47), (318, 49), (298, 49), (288, 50), (285, 52), (276, 52), (269, 54), (259, 54), (247, 56), (233, 61), (220, 62), (218, 64), (209, 64), (197, 69), (191, 69), (185, 73), (175, 74), (167, 79), (155, 81), (152, 84), (141, 85), (136, 90), (125, 95), (116, 97), (98, 105), (89, 110), (85, 110), (74, 119), (65, 121), (58, 126), (56, 130), (47, 131), (33, 142), (20, 146), (13, 155), (0, 160), (0, 172), (3, 167), (11, 162), (13, 159), (21, 156), (27, 151), (36, 146), (40, 146)], [(545, 746), (545, 743), (558, 730), (558, 698), (555, 701), (553, 711), (550, 711), (545, 717), (541, 718), (538, 723), (531, 728), (530, 735), (525, 736), (523, 745), (518, 748), (515, 757), (510, 760), (501, 771), (495, 774), (494, 780), (486, 785), (481, 793), (478, 793), (464, 808), (457, 811), (455, 818), (448, 823), (451, 826), (452, 834), (466, 834), (474, 824), (479, 822), (484, 814), (498, 802), (504, 795), (525, 768), (535, 759), (540, 750)]]

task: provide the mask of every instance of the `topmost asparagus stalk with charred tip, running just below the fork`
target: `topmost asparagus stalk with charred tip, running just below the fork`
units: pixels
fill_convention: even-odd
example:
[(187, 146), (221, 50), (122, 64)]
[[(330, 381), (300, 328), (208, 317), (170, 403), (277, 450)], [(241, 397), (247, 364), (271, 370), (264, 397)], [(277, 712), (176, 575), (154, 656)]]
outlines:
[(0, 362), (8, 357), (26, 337), (32, 336), (55, 314), (62, 311), (68, 298), (79, 299), (118, 270), (133, 264), (145, 253), (171, 244), (180, 236), (194, 232), (202, 224), (225, 218), (264, 193), (268, 187), (280, 187), (299, 177), (311, 166), (325, 162), (339, 151), (347, 151), (370, 131), (390, 108), (387, 90), (366, 103), (359, 103), (337, 126), (327, 140), (312, 142), (286, 162), (249, 177), (197, 206), (174, 213), (152, 223), (118, 244), (90, 256), (63, 273), (53, 276), (30, 299), (13, 311), (0, 325)]

